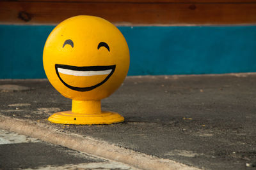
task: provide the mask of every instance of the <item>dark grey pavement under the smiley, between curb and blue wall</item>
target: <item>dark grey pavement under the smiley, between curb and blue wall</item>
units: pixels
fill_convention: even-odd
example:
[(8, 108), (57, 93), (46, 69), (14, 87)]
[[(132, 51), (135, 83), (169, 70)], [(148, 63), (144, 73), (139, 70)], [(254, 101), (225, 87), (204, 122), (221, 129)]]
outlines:
[(47, 80), (0, 80), (0, 125), (14, 128), (4, 117), (40, 123), (188, 167), (255, 169), (255, 87), (253, 73), (128, 77), (102, 100), (102, 110), (120, 113), (124, 123), (59, 125), (47, 117), (70, 110), (71, 100)]

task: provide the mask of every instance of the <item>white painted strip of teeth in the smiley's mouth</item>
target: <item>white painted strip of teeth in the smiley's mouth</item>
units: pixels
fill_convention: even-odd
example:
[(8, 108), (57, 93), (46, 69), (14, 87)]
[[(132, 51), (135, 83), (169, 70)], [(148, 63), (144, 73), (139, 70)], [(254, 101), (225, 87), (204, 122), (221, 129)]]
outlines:
[(107, 69), (104, 71), (75, 71), (71, 69), (58, 68), (59, 73), (68, 74), (72, 76), (99, 76), (99, 75), (110, 74), (111, 71), (112, 69)]

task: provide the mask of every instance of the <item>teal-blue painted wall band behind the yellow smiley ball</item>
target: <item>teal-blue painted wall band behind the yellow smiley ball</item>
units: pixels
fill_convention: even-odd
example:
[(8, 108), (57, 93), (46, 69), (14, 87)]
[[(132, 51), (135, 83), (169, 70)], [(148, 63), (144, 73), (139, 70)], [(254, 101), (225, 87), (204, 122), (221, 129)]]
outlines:
[[(0, 78), (45, 78), (42, 52), (53, 26), (0, 25)], [(256, 71), (256, 26), (118, 27), (129, 75)]]

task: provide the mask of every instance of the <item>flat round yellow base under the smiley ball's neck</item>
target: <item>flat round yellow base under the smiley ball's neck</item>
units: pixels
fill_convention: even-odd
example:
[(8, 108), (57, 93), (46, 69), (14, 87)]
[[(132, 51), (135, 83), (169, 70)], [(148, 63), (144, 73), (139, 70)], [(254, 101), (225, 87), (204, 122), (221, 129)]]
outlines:
[(99, 125), (124, 122), (124, 117), (115, 112), (102, 111), (97, 114), (77, 114), (72, 111), (54, 113), (48, 120), (55, 124)]

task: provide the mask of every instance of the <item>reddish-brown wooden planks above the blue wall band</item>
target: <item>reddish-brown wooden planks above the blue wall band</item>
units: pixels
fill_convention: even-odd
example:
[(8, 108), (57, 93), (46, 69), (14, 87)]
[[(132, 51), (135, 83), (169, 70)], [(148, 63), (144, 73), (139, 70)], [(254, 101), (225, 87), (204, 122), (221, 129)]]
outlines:
[(253, 25), (256, 0), (0, 0), (0, 24), (95, 15), (116, 25)]

